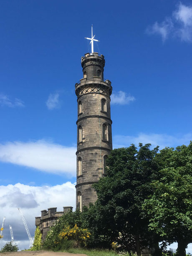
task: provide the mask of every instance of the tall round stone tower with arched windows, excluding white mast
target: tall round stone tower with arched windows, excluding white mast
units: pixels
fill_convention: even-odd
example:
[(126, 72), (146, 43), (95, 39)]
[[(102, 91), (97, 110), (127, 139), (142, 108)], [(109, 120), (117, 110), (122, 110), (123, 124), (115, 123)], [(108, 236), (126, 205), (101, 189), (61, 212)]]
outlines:
[(111, 82), (104, 79), (105, 60), (98, 53), (81, 57), (83, 78), (75, 85), (78, 105), (76, 207), (94, 203), (92, 188), (105, 175), (105, 161), (112, 150)]

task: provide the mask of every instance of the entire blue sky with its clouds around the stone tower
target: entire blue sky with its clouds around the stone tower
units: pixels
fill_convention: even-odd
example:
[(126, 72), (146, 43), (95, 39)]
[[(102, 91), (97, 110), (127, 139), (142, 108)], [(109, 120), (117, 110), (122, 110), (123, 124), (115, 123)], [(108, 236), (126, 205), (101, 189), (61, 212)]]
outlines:
[[(91, 24), (113, 86), (114, 147), (192, 138), (191, 1), (0, 0), (0, 205), (16, 222), (22, 207), (32, 233), (40, 210), (75, 205), (74, 86)], [(52, 200), (52, 190), (69, 194)], [(36, 203), (21, 203), (26, 195)]]

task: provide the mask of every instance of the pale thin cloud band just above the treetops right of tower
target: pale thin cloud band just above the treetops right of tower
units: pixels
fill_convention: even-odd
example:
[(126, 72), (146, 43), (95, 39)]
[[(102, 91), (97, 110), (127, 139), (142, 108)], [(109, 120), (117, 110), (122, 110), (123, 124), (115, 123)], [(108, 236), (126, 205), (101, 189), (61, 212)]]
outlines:
[(114, 148), (129, 147), (130, 144), (138, 146), (139, 142), (141, 142), (143, 144), (151, 143), (152, 147), (159, 146), (159, 149), (163, 149), (164, 147), (177, 147), (182, 144), (188, 145), (190, 140), (192, 140), (192, 133), (180, 136), (139, 133), (137, 136), (115, 135), (113, 137), (113, 146)]

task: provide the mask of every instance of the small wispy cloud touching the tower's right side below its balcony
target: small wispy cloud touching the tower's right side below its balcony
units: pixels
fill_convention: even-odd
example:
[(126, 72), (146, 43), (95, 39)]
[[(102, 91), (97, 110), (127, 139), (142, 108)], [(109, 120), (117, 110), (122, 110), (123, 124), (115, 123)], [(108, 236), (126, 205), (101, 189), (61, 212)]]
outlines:
[(124, 91), (114, 92), (111, 95), (111, 104), (126, 105), (134, 100), (135, 100), (134, 96), (131, 96), (130, 94), (126, 94), (126, 92)]

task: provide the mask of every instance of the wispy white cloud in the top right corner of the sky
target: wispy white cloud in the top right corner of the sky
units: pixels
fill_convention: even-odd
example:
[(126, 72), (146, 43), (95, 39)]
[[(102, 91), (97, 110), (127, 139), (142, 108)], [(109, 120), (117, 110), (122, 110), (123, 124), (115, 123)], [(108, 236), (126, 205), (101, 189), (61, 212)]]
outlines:
[(162, 41), (178, 37), (181, 41), (192, 42), (192, 6), (180, 3), (171, 17), (165, 18), (162, 23), (155, 22), (146, 32), (161, 35)]

